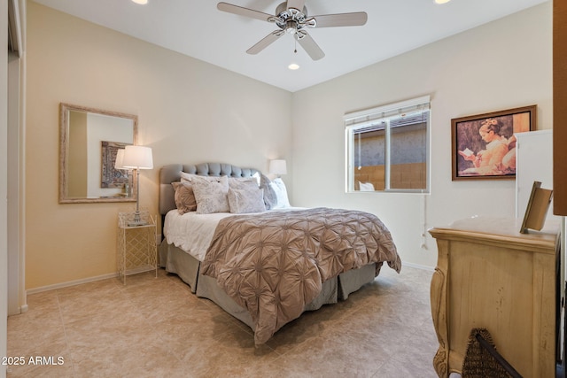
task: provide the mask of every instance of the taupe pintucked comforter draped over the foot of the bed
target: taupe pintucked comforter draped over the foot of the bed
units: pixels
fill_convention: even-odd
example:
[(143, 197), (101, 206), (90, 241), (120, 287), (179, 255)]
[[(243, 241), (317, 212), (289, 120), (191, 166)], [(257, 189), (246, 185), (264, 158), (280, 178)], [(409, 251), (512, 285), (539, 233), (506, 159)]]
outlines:
[(315, 208), (222, 219), (201, 264), (247, 309), (254, 342), (299, 317), (322, 282), (350, 269), (401, 260), (382, 221), (368, 212)]

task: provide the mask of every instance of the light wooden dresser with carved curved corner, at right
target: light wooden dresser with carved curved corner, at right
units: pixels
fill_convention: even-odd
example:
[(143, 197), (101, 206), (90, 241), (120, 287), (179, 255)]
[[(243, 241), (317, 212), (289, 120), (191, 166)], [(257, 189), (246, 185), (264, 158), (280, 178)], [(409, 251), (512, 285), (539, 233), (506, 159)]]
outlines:
[(439, 257), (431, 314), (440, 377), (461, 373), (472, 328), (527, 377), (555, 377), (560, 225), (520, 234), (521, 220), (475, 217), (432, 228)]

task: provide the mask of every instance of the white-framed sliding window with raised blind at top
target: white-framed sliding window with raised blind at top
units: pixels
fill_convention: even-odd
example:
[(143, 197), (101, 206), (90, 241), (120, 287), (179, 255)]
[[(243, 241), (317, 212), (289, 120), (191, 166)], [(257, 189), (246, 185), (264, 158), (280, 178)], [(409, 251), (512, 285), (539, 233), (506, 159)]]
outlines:
[(429, 125), (429, 96), (346, 114), (346, 191), (429, 192)]

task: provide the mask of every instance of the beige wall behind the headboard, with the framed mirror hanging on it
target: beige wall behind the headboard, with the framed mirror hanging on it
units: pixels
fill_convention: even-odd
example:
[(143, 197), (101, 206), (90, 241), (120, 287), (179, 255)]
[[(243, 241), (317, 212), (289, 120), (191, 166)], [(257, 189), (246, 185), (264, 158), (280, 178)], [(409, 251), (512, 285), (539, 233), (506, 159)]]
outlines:
[[(58, 104), (137, 114), (140, 206), (157, 213), (159, 166), (290, 158), (291, 93), (27, 2), (26, 288), (113, 274), (117, 212), (58, 204)], [(291, 181), (290, 181), (291, 183)]]

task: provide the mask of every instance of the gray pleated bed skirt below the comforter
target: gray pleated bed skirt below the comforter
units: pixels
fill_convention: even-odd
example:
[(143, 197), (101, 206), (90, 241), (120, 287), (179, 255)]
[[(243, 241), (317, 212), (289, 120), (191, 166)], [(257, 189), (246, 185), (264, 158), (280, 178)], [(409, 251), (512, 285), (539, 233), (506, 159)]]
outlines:
[[(224, 311), (228, 312), (238, 320), (244, 322), (248, 327), (254, 329), (250, 314), (238, 305), (217, 284), (213, 277), (199, 274), (199, 261), (189, 253), (168, 244), (164, 240), (159, 246), (159, 266), (166, 269), (168, 273), (177, 274), (183, 282), (190, 286), (191, 292), (198, 297), (212, 300)], [(361, 289), (369, 282), (373, 282), (376, 274), (376, 264), (362, 266), (353, 269), (338, 277), (323, 282), (322, 291), (318, 297), (305, 306), (304, 311), (314, 311), (322, 305), (335, 304), (338, 300), (345, 300), (349, 294)]]

